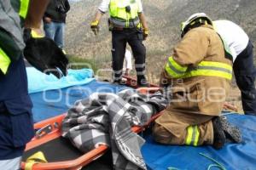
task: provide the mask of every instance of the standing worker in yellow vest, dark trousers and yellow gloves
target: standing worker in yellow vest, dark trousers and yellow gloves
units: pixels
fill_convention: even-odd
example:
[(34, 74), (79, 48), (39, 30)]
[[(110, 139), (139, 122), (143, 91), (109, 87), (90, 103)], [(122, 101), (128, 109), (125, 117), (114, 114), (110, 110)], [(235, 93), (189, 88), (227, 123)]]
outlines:
[(112, 31), (113, 82), (120, 83), (126, 43), (131, 46), (137, 71), (137, 85), (148, 86), (145, 77), (146, 48), (143, 39), (148, 37), (148, 25), (143, 14), (141, 0), (102, 0), (96, 18), (90, 24), (97, 33), (102, 14), (109, 10), (109, 30)]

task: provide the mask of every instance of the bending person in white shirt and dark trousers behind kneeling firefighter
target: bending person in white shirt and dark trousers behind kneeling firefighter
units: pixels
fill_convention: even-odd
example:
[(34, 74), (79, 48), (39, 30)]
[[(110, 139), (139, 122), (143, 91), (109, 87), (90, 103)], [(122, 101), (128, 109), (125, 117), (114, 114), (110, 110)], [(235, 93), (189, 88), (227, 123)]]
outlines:
[(256, 68), (253, 65), (253, 43), (247, 33), (230, 20), (215, 20), (213, 27), (230, 47), (236, 84), (241, 91), (242, 109), (256, 116)]

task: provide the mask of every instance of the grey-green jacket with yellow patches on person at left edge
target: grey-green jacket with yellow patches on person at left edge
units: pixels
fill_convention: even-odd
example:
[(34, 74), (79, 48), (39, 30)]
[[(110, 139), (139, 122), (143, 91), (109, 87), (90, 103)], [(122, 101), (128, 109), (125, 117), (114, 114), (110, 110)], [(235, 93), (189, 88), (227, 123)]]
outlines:
[(28, 6), (29, 0), (0, 2), (0, 70), (4, 74), (11, 60), (19, 59), (25, 48), (20, 19), (25, 20)]

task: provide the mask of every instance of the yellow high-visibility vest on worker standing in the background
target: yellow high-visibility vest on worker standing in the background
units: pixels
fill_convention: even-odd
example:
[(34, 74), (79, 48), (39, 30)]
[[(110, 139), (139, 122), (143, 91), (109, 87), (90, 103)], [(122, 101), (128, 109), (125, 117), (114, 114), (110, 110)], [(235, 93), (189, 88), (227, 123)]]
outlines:
[(114, 26), (136, 27), (139, 23), (137, 0), (111, 0), (109, 14)]

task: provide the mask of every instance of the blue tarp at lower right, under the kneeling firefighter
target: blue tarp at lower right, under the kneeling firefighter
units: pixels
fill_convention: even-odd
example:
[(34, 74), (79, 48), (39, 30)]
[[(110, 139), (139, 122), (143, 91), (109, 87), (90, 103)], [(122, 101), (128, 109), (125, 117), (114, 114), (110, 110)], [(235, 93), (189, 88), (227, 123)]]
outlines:
[(155, 143), (149, 134), (142, 148), (148, 170), (167, 170), (167, 167), (207, 170), (210, 164), (215, 164), (199, 153), (212, 157), (227, 170), (256, 170), (256, 116), (233, 114), (227, 117), (232, 124), (240, 127), (241, 144), (226, 144), (221, 150), (214, 150), (211, 146), (164, 145)]

